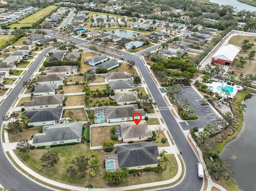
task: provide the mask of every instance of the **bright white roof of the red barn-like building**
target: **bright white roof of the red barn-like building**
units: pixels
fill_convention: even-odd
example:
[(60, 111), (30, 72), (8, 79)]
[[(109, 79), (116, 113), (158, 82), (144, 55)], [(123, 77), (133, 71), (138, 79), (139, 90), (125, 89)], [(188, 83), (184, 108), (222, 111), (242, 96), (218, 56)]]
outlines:
[(221, 47), (214, 55), (214, 58), (233, 61), (236, 58), (236, 55), (239, 53), (240, 49), (234, 45), (227, 45)]

